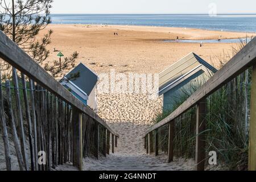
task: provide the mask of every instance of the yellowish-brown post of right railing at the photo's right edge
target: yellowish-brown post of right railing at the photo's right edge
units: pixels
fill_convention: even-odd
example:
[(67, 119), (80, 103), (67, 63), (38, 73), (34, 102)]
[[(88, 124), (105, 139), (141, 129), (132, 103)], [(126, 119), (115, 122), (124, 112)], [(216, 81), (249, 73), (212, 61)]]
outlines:
[(251, 75), (251, 116), (249, 129), (249, 171), (256, 171), (256, 65)]

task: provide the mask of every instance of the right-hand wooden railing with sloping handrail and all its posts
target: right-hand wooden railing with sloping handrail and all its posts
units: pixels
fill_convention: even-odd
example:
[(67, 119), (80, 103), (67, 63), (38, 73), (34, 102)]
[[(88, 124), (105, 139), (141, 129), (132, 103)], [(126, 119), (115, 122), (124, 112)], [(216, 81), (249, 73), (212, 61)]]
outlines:
[[(200, 89), (192, 94), (187, 101), (183, 102), (168, 117), (150, 127), (144, 135), (144, 145), (147, 153), (155, 148), (155, 155), (158, 155), (160, 127), (168, 125), (168, 162), (174, 158), (175, 119), (186, 111), (196, 106), (196, 148), (195, 164), (197, 170), (204, 170), (205, 167), (205, 115), (206, 98), (222, 86), (233, 80), (235, 77), (253, 67), (251, 76), (251, 107), (249, 126), (249, 170), (256, 170), (256, 39), (254, 38), (240, 52), (237, 53), (228, 63), (215, 73)], [(154, 146), (153, 146), (154, 144)]]

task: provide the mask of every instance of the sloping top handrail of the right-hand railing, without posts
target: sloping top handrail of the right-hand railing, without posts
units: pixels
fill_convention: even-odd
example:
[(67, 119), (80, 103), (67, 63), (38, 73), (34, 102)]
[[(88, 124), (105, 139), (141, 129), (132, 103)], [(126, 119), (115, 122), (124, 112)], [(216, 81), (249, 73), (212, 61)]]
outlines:
[(173, 121), (179, 115), (185, 113), (185, 111), (191, 109), (191, 107), (197, 105), (201, 100), (208, 97), (215, 92), (221, 86), (238, 76), (240, 73), (251, 67), (256, 63), (256, 38), (251, 40), (244, 48), (241, 49), (228, 63), (224, 65), (219, 71), (217, 71), (199, 90), (192, 94), (187, 101), (183, 102), (174, 112), (168, 117), (164, 118), (159, 123), (150, 127), (144, 134), (144, 137), (148, 133), (167, 125)]

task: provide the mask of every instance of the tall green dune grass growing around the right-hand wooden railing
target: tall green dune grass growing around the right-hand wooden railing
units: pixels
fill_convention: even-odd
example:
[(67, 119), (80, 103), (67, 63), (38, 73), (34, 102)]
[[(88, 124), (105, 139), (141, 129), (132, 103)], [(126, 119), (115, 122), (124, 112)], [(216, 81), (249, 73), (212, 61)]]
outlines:
[[(233, 48), (236, 54), (245, 44), (241, 42)], [(224, 65), (233, 55), (220, 56)], [(191, 84), (189, 90), (182, 90), (179, 98), (174, 98), (175, 106), (155, 117), (155, 123), (162, 121), (177, 109), (202, 83)], [(248, 126), (250, 120), (251, 68), (241, 73), (225, 86), (207, 97), (207, 115), (205, 116), (206, 158), (208, 166), (209, 151), (217, 152), (217, 164), (220, 169), (247, 170), (248, 162)], [(196, 109), (193, 107), (175, 119), (174, 154), (182, 158), (195, 158)], [(168, 148), (168, 127), (159, 130), (160, 149)]]

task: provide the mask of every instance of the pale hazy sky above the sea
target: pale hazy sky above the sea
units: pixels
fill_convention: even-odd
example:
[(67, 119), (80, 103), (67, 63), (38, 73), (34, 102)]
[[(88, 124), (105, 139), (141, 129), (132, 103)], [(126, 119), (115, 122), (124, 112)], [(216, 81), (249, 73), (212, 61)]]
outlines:
[(255, 0), (53, 0), (51, 13), (77, 14), (217, 14), (256, 13)]

